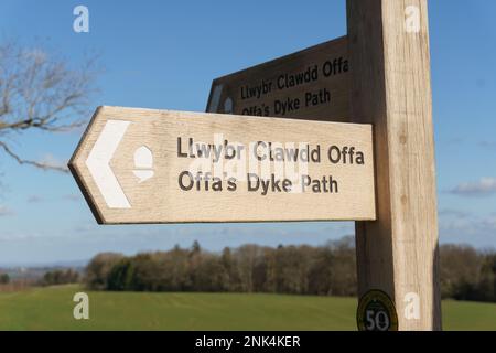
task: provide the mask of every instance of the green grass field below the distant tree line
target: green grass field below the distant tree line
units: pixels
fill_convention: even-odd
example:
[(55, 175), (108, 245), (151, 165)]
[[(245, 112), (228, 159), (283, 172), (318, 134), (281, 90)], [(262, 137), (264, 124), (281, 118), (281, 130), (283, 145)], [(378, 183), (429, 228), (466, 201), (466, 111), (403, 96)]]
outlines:
[[(238, 293), (88, 292), (77, 286), (0, 292), (0, 330), (355, 330), (353, 298)], [(496, 330), (496, 304), (443, 302), (445, 330)]]

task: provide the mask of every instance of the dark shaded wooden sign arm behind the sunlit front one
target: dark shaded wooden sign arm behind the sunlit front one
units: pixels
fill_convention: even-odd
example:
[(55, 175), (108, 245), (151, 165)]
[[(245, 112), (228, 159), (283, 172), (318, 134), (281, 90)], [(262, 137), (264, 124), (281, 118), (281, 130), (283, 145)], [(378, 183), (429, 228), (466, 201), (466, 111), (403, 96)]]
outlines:
[(344, 36), (214, 79), (207, 111), (346, 121), (348, 93)]

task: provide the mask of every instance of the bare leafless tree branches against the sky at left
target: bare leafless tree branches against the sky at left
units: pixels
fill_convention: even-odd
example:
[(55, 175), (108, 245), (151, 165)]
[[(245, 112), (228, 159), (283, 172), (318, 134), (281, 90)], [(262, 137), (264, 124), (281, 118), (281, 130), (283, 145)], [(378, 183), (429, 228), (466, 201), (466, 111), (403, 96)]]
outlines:
[[(89, 97), (96, 92), (97, 57), (69, 68), (40, 47), (0, 44), (0, 136), (30, 130), (69, 131), (86, 124)], [(0, 141), (1, 149), (20, 164), (66, 172), (66, 168), (23, 159)]]

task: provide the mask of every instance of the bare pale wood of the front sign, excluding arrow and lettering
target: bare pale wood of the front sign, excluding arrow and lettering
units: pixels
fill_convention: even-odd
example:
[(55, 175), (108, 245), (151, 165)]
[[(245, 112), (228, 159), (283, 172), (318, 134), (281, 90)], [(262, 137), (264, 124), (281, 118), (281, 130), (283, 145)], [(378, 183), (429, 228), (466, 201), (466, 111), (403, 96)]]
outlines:
[[(109, 162), (129, 207), (109, 206), (103, 196), (103, 192), (109, 190), (100, 190), (87, 165), (88, 157), (108, 121), (130, 122)], [(247, 191), (247, 181), (242, 180), (246, 173), (238, 174), (240, 176), (237, 178), (236, 191), (226, 190), (226, 183), (223, 191), (205, 191), (203, 186), (201, 191), (182, 190), (179, 184), (180, 173), (192, 170), (192, 162), (197, 162), (201, 158), (179, 158), (177, 138), (182, 138), (182, 152), (185, 152), (188, 138), (193, 138), (195, 142), (214, 143), (216, 135), (220, 141), (228, 140), (247, 148), (257, 141), (281, 143), (281, 147), (291, 147), (291, 143), (295, 143), (293, 147), (299, 147), (300, 143), (311, 148), (320, 146), (321, 161), (309, 162), (305, 174), (319, 180), (332, 176), (337, 182), (338, 190), (314, 193), (306, 188), (304, 192), (298, 192), (301, 189), (294, 185), (295, 192), (276, 190), (262, 195), (260, 190)], [(152, 151), (153, 176), (139, 182), (134, 174), (133, 156), (142, 146)], [(331, 146), (347, 147), (348, 150), (354, 147), (355, 157), (358, 151), (363, 152), (364, 163), (352, 164), (349, 154), (346, 163), (332, 163), (326, 152)], [(106, 224), (374, 220), (371, 150), (370, 125), (100, 107), (71, 160), (69, 168), (98, 222)], [(204, 160), (207, 160), (208, 165), (214, 164), (208, 162), (208, 158)], [(224, 162), (228, 163), (227, 160)], [(288, 165), (285, 163), (284, 168)], [(194, 168), (196, 167), (193, 165)], [(262, 174), (261, 168), (257, 168), (256, 172), (263, 179), (270, 179), (270, 173), (276, 171), (273, 162), (269, 165), (270, 173)], [(226, 171), (229, 170), (226, 167)], [(224, 181), (230, 175), (224, 175)], [(289, 178), (291, 174), (279, 176)]]

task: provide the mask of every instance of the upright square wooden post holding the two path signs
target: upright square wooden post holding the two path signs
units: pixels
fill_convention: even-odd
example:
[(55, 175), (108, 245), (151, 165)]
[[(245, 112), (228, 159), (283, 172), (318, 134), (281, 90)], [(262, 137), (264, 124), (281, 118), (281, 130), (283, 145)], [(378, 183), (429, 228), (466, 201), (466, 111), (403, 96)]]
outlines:
[(352, 121), (374, 125), (377, 220), (356, 223), (358, 292), (399, 330), (441, 330), (427, 0), (347, 0)]

